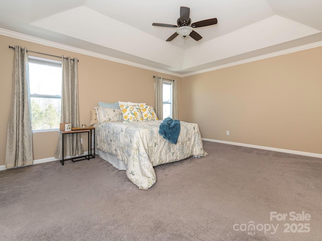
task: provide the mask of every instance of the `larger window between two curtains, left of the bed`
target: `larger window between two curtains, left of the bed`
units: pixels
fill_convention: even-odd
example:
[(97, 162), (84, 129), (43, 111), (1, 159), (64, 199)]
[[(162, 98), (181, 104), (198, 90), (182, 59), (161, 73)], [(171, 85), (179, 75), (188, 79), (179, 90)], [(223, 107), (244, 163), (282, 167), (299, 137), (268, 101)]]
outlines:
[(32, 130), (59, 129), (61, 61), (29, 56)]

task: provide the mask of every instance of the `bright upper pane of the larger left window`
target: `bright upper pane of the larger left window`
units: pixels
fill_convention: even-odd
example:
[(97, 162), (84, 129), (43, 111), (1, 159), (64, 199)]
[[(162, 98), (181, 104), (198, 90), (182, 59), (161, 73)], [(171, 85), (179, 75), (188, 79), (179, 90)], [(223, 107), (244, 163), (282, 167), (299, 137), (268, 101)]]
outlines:
[(29, 62), (30, 94), (61, 95), (61, 67)]

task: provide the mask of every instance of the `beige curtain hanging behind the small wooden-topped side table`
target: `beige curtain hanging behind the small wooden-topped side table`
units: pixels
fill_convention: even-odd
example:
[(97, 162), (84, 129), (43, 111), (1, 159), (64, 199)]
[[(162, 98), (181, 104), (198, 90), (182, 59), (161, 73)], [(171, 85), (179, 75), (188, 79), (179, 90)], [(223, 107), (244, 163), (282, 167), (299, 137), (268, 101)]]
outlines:
[[(61, 123), (71, 123), (79, 127), (77, 59), (62, 57), (62, 93)], [(76, 156), (84, 153), (81, 134), (64, 135), (64, 156)], [(62, 135), (55, 151), (55, 158), (62, 157)]]

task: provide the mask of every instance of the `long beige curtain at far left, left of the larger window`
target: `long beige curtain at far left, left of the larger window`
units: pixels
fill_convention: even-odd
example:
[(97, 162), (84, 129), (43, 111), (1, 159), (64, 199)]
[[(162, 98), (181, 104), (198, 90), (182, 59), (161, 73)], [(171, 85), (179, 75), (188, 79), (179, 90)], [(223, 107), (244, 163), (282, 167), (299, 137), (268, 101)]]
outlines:
[(16, 46), (6, 148), (6, 168), (33, 164), (27, 49)]

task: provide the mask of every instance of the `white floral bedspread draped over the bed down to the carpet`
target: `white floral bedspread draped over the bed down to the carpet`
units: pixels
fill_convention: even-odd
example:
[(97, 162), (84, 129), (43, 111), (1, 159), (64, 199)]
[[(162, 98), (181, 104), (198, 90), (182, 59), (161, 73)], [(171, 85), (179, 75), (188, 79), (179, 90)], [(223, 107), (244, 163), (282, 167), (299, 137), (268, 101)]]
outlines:
[(158, 134), (162, 121), (103, 123), (97, 128), (97, 148), (127, 165), (127, 177), (147, 190), (156, 181), (153, 167), (191, 156), (205, 157), (197, 124), (180, 122), (177, 144)]

